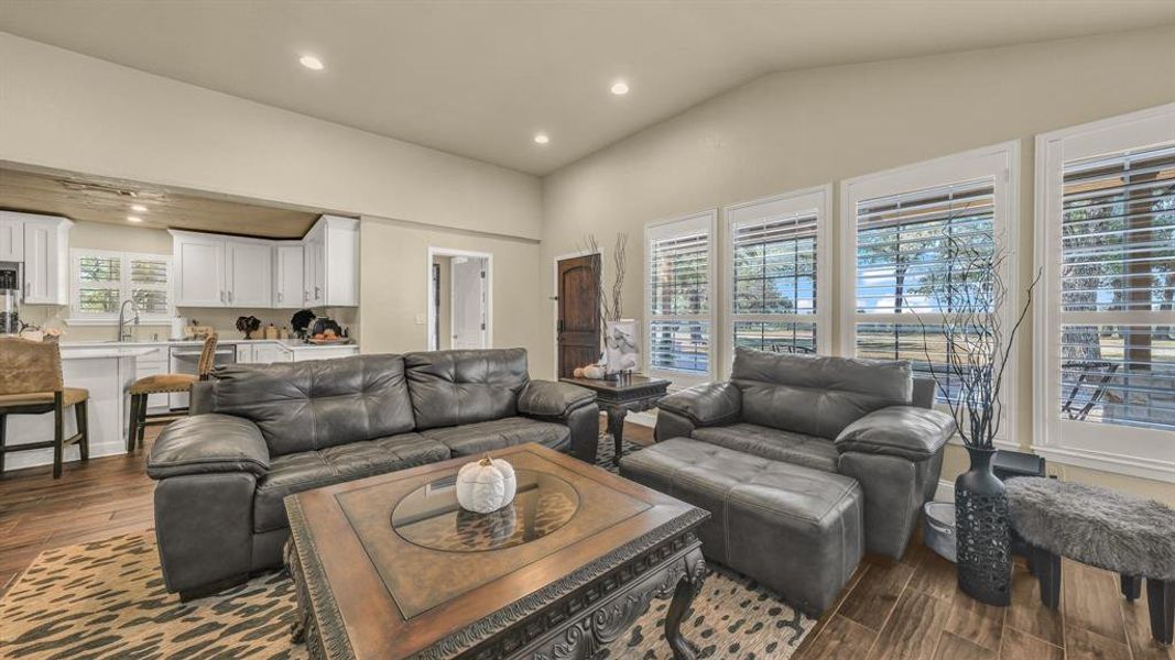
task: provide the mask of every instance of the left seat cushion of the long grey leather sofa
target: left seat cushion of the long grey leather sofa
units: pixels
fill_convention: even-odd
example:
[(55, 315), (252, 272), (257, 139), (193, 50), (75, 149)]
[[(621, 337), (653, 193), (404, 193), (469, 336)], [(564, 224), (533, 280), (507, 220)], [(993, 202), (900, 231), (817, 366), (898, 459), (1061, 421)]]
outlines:
[(288, 494), (448, 458), (449, 447), (419, 433), (288, 453), (273, 459), (269, 473), (257, 483), (253, 528), (267, 532), (287, 527), (283, 500)]

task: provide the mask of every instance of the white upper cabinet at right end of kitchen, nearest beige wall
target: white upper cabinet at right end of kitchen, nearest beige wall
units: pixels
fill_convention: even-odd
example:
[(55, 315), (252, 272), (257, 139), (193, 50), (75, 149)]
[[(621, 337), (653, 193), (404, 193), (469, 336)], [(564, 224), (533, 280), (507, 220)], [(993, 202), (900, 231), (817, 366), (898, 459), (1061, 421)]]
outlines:
[(307, 304), (360, 304), (360, 221), (324, 215), (302, 238)]

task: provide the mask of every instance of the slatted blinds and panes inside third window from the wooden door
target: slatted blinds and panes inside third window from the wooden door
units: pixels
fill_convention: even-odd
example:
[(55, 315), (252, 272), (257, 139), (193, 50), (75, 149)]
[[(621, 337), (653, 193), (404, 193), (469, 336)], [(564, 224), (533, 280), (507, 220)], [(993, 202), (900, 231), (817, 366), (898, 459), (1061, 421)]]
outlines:
[(861, 200), (855, 215), (857, 355), (908, 359), (939, 378), (940, 400), (955, 396), (939, 324), (973, 309), (952, 291), (991, 280), (995, 177)]

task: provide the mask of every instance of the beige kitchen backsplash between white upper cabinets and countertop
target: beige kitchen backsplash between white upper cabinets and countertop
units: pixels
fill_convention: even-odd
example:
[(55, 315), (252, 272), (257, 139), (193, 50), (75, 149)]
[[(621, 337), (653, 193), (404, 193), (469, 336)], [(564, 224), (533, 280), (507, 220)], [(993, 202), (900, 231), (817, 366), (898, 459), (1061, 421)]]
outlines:
[[(290, 326), (290, 317), (297, 310), (293, 309), (219, 309), (219, 308), (179, 308), (179, 315), (188, 323), (193, 319), (201, 325), (212, 325), (223, 337), (240, 339), (244, 334), (236, 329), (236, 319), (241, 316), (256, 316), (261, 319), (261, 326), (273, 323), (281, 328)], [(335, 319), (343, 328), (349, 329), (350, 336), (358, 341), (358, 310), (356, 308), (328, 308), (317, 309), (315, 314), (325, 314)], [(118, 330), (114, 325), (70, 325), (66, 322), (69, 315), (68, 307), (58, 305), (22, 305), (20, 317), (25, 323), (41, 326), (56, 326), (61, 329), (62, 339), (66, 342), (93, 342), (102, 339), (114, 339)], [(130, 331), (136, 339), (167, 339), (172, 332), (168, 324), (140, 324), (130, 325)]]

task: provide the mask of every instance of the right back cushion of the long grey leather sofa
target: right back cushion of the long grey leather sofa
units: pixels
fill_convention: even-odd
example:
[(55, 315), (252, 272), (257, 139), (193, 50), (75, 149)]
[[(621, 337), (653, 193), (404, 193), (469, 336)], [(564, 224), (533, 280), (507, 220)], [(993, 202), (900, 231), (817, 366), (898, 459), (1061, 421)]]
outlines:
[(404, 364), (417, 430), (513, 417), (530, 380), (525, 349), (414, 352)]

